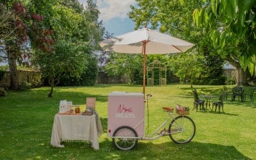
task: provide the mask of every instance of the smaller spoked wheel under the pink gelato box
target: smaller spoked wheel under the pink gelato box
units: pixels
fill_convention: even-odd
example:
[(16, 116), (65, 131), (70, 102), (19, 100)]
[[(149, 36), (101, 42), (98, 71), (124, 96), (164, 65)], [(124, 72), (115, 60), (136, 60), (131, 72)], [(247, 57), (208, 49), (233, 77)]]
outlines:
[(119, 150), (132, 150), (138, 143), (137, 132), (129, 126), (118, 127), (113, 133), (113, 145)]

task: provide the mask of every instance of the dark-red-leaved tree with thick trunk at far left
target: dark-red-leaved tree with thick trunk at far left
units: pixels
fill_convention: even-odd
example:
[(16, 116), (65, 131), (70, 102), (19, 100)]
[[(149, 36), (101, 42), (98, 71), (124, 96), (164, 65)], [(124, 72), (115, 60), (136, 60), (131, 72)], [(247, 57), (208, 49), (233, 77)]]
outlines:
[[(11, 88), (19, 89), (19, 76), (17, 74), (17, 58), (20, 57), (25, 42), (32, 42), (44, 52), (52, 52), (53, 31), (45, 29), (42, 24), (43, 15), (28, 12), (27, 8), (20, 2), (5, 1), (1, 2), (4, 10), (11, 10), (10, 16), (7, 16), (3, 22), (8, 23), (8, 36), (1, 36), (1, 45), (3, 52), (8, 58), (10, 68)], [(8, 8), (8, 9), (7, 9)], [(12, 16), (14, 13), (14, 16)], [(6, 30), (5, 30), (6, 31)], [(2, 32), (2, 31), (1, 31)], [(3, 39), (2, 39), (3, 38)]]

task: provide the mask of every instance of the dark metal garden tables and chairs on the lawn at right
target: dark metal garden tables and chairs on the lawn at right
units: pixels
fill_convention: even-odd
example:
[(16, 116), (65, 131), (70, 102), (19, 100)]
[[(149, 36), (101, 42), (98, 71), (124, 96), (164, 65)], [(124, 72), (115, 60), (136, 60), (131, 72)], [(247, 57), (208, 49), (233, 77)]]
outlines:
[[(231, 97), (231, 101), (234, 102), (236, 100), (236, 97), (238, 97), (239, 101), (241, 102), (245, 102), (246, 97), (250, 98), (251, 102), (254, 102), (254, 97), (253, 95), (255, 94), (255, 90), (256, 87), (253, 87), (250, 90), (250, 93), (245, 93), (245, 88), (243, 88), (243, 86), (236, 86), (234, 88), (232, 88), (232, 93), (228, 92), (228, 88), (227, 86), (223, 86), (223, 92), (221, 92), (221, 94), (219, 95), (219, 99), (218, 101), (212, 102), (212, 108), (211, 108), (211, 98), (214, 97), (218, 97), (216, 95), (199, 95), (198, 92), (196, 91), (196, 89), (192, 90), (193, 92), (193, 96), (194, 96), (194, 109), (196, 109), (196, 111), (198, 111), (198, 107), (200, 110), (202, 111), (207, 111), (207, 107), (209, 107), (211, 109), (211, 111), (213, 111), (214, 107), (215, 107), (215, 112), (216, 109), (219, 109), (219, 113), (220, 113), (220, 109), (222, 109), (223, 111), (223, 107), (224, 107), (224, 101), (227, 100), (228, 95), (230, 95)], [(200, 99), (200, 97), (204, 97), (204, 99)]]

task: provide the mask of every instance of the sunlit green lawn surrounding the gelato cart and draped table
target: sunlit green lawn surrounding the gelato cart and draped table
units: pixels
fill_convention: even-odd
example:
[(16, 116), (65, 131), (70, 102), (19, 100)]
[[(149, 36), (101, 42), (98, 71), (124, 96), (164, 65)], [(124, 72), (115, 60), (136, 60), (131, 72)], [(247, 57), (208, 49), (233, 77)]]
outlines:
[[(194, 88), (200, 95), (219, 95), (223, 90), (223, 86)], [(0, 159), (256, 159), (256, 102), (230, 102), (228, 97), (225, 114), (191, 110), (196, 134), (190, 143), (177, 145), (164, 136), (139, 141), (138, 147), (125, 152), (117, 150), (106, 133), (108, 93), (142, 92), (142, 86), (58, 87), (52, 98), (47, 97), (49, 89), (8, 92), (7, 97), (0, 97)], [(249, 87), (246, 92), (250, 92)], [(189, 84), (147, 86), (146, 93), (153, 95), (148, 101), (149, 132), (163, 122), (166, 113), (162, 106), (182, 104), (193, 108)], [(65, 148), (51, 147), (52, 123), (60, 100), (80, 104), (83, 110), (86, 97), (97, 97), (96, 108), (104, 129), (100, 150), (93, 150), (89, 143), (74, 142), (65, 142)]]

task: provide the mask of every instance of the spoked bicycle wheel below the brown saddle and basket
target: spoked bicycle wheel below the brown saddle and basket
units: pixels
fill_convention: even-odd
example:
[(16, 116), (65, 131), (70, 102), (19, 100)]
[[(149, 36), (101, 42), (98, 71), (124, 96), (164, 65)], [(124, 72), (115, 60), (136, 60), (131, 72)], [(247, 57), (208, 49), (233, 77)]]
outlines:
[(169, 135), (175, 143), (188, 143), (196, 132), (195, 123), (188, 116), (177, 116), (169, 125)]

